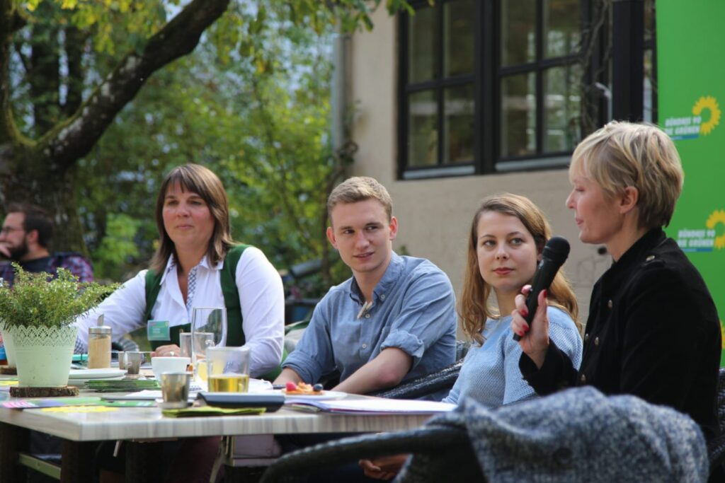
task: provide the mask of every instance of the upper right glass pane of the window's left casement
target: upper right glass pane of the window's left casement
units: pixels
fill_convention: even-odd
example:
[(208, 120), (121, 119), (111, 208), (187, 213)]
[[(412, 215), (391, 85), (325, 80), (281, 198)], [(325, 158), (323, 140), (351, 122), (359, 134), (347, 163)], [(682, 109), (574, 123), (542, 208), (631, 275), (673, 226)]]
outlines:
[(451, 1), (443, 6), (443, 75), (473, 72), (474, 25), (476, 4), (473, 0)]

